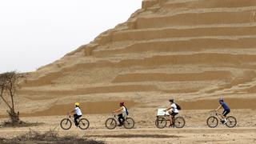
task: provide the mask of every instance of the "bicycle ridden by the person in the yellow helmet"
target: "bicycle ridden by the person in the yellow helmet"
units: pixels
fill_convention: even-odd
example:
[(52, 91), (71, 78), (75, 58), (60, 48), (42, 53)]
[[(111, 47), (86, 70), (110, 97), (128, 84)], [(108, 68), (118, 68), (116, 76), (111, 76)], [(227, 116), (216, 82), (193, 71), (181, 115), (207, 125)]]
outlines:
[[(60, 125), (63, 130), (70, 130), (72, 126), (72, 122), (74, 122), (74, 117), (71, 117), (70, 114), (67, 115), (67, 118), (63, 118), (60, 122)], [(78, 127), (81, 130), (87, 130), (90, 126), (90, 122), (86, 118), (78, 118)]]

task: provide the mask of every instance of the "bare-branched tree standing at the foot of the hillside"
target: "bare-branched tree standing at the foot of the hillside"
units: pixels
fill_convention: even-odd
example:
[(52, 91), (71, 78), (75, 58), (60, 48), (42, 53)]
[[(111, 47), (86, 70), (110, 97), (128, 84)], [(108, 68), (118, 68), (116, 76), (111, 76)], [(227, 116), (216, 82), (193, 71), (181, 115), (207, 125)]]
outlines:
[(19, 113), (15, 111), (14, 106), (14, 96), (19, 88), (18, 83), (22, 78), (24, 77), (16, 71), (0, 74), (0, 97), (9, 108), (7, 113), (12, 123), (19, 122)]

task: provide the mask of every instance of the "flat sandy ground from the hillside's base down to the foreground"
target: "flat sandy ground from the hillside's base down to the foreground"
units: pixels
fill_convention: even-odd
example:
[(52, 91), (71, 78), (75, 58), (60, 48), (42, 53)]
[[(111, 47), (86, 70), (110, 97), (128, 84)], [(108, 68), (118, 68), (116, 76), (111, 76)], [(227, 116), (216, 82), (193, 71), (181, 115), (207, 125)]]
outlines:
[[(146, 111), (148, 110), (148, 111)], [(145, 111), (142, 114), (140, 111)], [(230, 115), (238, 119), (235, 128), (219, 125), (217, 128), (206, 126), (209, 110), (182, 110), (180, 116), (186, 119), (186, 126), (182, 129), (158, 129), (154, 126), (155, 109), (134, 108), (130, 117), (134, 118), (135, 126), (132, 130), (117, 127), (107, 130), (106, 118), (111, 114), (87, 114), (84, 117), (90, 121), (88, 130), (80, 130), (74, 126), (70, 130), (62, 130), (59, 122), (66, 116), (23, 117), (26, 122), (44, 123), (39, 126), (1, 128), (2, 138), (13, 138), (25, 134), (29, 130), (47, 131), (58, 130), (60, 135), (78, 135), (82, 138), (102, 140), (106, 143), (254, 143), (256, 142), (256, 111), (250, 109), (232, 110)], [(242, 116), (242, 117), (241, 117)], [(6, 118), (1, 118), (4, 121)]]

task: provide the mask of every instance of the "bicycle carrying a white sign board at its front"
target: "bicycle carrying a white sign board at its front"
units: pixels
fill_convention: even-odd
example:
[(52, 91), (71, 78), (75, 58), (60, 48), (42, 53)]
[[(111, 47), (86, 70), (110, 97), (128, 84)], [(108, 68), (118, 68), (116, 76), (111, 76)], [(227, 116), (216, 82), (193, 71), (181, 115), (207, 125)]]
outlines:
[[(160, 112), (160, 113), (159, 113)], [(155, 126), (157, 126), (159, 129), (163, 129), (167, 125), (167, 121), (170, 122), (170, 118), (168, 118), (170, 114), (166, 113), (165, 109), (159, 109), (157, 118), (155, 120)], [(177, 116), (173, 118), (173, 126), (176, 128), (183, 128), (186, 124), (186, 121), (183, 117)]]

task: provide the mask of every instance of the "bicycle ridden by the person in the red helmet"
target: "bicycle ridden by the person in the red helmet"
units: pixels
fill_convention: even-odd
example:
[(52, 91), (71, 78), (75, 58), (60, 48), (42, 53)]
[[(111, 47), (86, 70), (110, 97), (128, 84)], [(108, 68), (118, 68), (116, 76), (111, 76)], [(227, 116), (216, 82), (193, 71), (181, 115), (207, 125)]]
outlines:
[[(116, 114), (114, 114), (113, 118), (106, 119), (105, 126), (107, 129), (113, 130), (117, 126), (117, 123), (118, 123), (118, 117), (116, 116)], [(126, 129), (134, 128), (134, 119), (133, 118), (125, 118), (125, 121), (123, 122), (123, 126)]]

